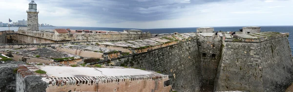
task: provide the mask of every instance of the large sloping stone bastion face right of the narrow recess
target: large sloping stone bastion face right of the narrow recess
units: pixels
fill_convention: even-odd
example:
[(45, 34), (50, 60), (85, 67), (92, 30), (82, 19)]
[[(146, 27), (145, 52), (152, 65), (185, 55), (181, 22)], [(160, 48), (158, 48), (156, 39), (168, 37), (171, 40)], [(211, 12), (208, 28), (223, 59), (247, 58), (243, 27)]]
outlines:
[(284, 92), (293, 82), (288, 37), (224, 45), (215, 91)]

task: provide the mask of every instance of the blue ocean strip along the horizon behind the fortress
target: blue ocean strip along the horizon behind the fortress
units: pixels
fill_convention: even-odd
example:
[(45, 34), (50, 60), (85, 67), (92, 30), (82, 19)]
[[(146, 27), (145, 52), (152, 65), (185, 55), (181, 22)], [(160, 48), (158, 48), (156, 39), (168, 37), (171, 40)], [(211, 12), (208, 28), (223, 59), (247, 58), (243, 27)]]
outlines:
[[(241, 27), (213, 27), (214, 31), (239, 31)], [(275, 31), (275, 32), (289, 32), (289, 43), (291, 51), (293, 53), (293, 26), (260, 26), (261, 31)], [(186, 32), (195, 32), (196, 28), (162, 28), (162, 29), (136, 29), (142, 30), (144, 32), (148, 31), (150, 33), (186, 33)], [(53, 30), (53, 29), (71, 29), (71, 30), (103, 30), (103, 31), (123, 31), (130, 30), (127, 28), (102, 28), (102, 27), (40, 27), (40, 30)], [(8, 27), (0, 27), (0, 31), (8, 30)], [(17, 31), (18, 27), (10, 27), (10, 30)]]

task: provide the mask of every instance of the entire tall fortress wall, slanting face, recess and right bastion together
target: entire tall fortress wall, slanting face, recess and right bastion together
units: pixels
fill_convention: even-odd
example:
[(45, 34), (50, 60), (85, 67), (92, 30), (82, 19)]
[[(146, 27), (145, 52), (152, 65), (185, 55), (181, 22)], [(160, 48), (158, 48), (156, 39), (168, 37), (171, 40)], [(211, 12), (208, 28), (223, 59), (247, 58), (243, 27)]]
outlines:
[(112, 60), (108, 64), (160, 71), (172, 76), (172, 87), (179, 92), (279, 92), (293, 82), (288, 34), (264, 38), (266, 40), (230, 40), (222, 34), (223, 38), (198, 34), (196, 40)]

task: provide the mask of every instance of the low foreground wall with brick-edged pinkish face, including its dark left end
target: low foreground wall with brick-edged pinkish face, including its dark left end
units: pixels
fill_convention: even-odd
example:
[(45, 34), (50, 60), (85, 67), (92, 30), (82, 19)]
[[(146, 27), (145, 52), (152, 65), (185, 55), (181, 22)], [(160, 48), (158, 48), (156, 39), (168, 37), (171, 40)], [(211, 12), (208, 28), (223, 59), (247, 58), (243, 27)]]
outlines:
[(169, 92), (167, 75), (48, 77), (32, 65), (17, 70), (17, 92)]

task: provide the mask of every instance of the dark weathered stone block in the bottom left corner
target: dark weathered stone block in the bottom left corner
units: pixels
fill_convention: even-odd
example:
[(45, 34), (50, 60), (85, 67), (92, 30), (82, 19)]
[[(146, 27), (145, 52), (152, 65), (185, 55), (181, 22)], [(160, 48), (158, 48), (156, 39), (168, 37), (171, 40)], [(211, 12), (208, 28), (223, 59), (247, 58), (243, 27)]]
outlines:
[(13, 72), (18, 67), (20, 61), (0, 61), (0, 92), (16, 92), (16, 77)]

